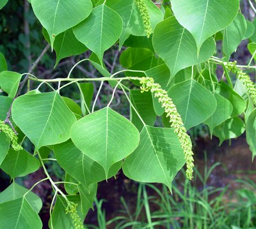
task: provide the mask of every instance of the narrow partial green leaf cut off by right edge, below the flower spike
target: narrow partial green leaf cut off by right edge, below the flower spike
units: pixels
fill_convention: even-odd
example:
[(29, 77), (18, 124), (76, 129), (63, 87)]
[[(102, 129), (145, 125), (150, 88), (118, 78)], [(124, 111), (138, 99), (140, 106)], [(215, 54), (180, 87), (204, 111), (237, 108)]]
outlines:
[(250, 146), (254, 158), (256, 155), (256, 108), (246, 121), (246, 142)]

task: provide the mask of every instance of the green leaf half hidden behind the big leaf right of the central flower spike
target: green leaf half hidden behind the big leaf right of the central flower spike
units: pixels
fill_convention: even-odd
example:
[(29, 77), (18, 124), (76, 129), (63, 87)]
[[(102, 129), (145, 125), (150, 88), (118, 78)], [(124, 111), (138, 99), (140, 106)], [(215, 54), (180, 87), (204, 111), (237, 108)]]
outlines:
[(233, 111), (233, 106), (230, 101), (226, 100), (217, 93), (214, 93), (214, 97), (217, 101), (216, 110), (211, 117), (209, 117), (209, 119), (204, 121), (204, 123), (209, 126), (211, 133), (216, 126), (229, 119)]

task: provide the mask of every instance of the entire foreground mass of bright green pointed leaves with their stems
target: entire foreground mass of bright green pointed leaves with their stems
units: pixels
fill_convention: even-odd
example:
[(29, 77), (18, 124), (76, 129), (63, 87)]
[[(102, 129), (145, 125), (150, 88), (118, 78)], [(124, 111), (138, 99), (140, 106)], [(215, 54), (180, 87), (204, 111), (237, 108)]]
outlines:
[[(173, 178), (186, 159), (188, 163), (184, 151), (191, 143), (183, 130), (204, 123), (223, 142), (246, 129), (248, 144), (253, 156), (256, 154), (256, 110), (250, 98), (255, 96), (255, 85), (241, 71), (255, 66), (228, 63), (242, 40), (255, 39), (253, 23), (239, 13), (239, 0), (164, 3), (158, 8), (151, 0), (31, 0), (45, 40), (56, 52), (55, 66), (65, 57), (91, 50), (90, 58), (77, 64), (90, 61), (102, 77), (76, 78), (72, 71), (77, 64), (67, 78), (36, 78), (31, 71), (21, 75), (8, 71), (0, 54), (0, 120), (19, 133), (21, 145), (28, 139), (35, 146), (33, 155), (26, 149), (15, 151), (10, 136), (0, 133), (0, 168), (13, 180), (0, 193), (3, 228), (42, 228), (40, 198), (14, 182), (15, 177), (31, 174), (40, 166), (46, 175), (42, 181), (50, 181), (54, 190), (49, 227), (81, 228), (81, 220), (93, 206), (97, 182), (113, 177), (120, 168), (135, 181), (161, 182), (172, 189)], [(216, 40), (223, 41), (222, 59), (212, 56)], [(120, 55), (125, 70), (111, 75), (102, 59), (116, 42), (120, 49), (127, 47)], [(250, 43), (248, 49), (254, 56), (256, 45)], [(216, 77), (218, 64), (224, 71), (221, 80)], [(229, 70), (239, 73), (235, 87)], [(116, 77), (120, 73), (124, 75)], [(141, 88), (141, 93), (141, 77), (156, 82), (165, 97), (154, 94), (152, 87), (148, 87), (151, 92)], [(138, 89), (127, 88), (124, 80)], [(28, 85), (40, 84), (19, 96), (27, 81)], [(92, 101), (94, 89), (88, 81), (100, 81), (100, 89), (104, 82), (113, 87), (105, 108), (95, 111), (100, 89)], [(52, 87), (56, 82), (58, 88)], [(42, 84), (52, 91), (40, 92)], [(60, 95), (71, 84), (77, 85), (80, 104)], [(116, 89), (129, 101), (130, 120), (111, 108)], [(169, 105), (172, 101), (175, 112), (165, 113), (170, 111), (165, 100)], [(164, 128), (155, 126), (157, 116), (162, 117)], [(176, 126), (177, 120), (180, 126)], [(49, 158), (51, 151), (54, 158)], [(63, 168), (65, 181), (52, 181), (45, 166), (49, 160)], [(189, 158), (189, 165), (192, 161)], [(58, 184), (65, 185), (65, 192)]]

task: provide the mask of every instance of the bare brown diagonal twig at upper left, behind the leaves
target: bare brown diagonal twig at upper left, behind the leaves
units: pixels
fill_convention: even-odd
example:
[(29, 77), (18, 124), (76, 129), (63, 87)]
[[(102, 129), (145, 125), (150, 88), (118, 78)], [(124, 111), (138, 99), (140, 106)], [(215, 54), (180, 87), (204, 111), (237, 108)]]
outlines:
[[(28, 74), (26, 75), (26, 77), (22, 80), (22, 82), (20, 82), (19, 85), (19, 90), (17, 91), (15, 97), (13, 98), (13, 101), (15, 101), (18, 96), (20, 95), (24, 85), (26, 84), (26, 82), (28, 81), (28, 77), (29, 74), (33, 73), (33, 71), (35, 70), (36, 66), (39, 64), (39, 62), (41, 61), (42, 57), (45, 55), (45, 53), (47, 52), (47, 50), (50, 48), (50, 45), (47, 44), (46, 47), (44, 48), (44, 50), (42, 51), (42, 53), (39, 55), (39, 57), (36, 59), (35, 63), (32, 64), (30, 70), (28, 71)], [(13, 105), (13, 101), (10, 105), (10, 109), (8, 110), (7, 114), (6, 114), (6, 119), (4, 120), (4, 124), (9, 124), (13, 130), (13, 132), (17, 135), (17, 131), (15, 130), (15, 128), (13, 127), (12, 121), (10, 121), (10, 117), (11, 117), (11, 113), (12, 113), (12, 105)]]

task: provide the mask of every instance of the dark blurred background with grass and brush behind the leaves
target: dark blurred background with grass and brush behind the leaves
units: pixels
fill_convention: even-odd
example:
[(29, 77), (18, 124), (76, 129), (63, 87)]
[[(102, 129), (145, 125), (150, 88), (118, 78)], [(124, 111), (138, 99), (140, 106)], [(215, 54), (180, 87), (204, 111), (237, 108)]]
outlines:
[[(251, 3), (241, 1), (241, 11), (250, 21), (255, 18)], [(47, 45), (42, 26), (27, 0), (9, 0), (4, 6), (0, 13), (0, 35), (0, 52), (6, 57), (10, 71), (27, 72)], [(247, 44), (248, 41), (243, 41), (231, 59), (248, 64), (251, 55)], [(221, 41), (218, 41), (218, 45), (217, 55), (221, 55)], [(104, 64), (109, 72), (122, 69), (118, 61), (122, 50), (119, 51), (118, 45), (115, 45), (104, 55)], [(49, 79), (67, 77), (72, 66), (90, 57), (90, 54), (85, 52), (68, 57), (54, 68), (56, 56), (48, 51), (38, 64), (35, 75)], [(77, 66), (74, 75), (79, 78), (100, 77), (88, 62)], [(252, 71), (251, 75), (254, 76), (255, 72)], [(32, 84), (31, 88), (35, 86)], [(133, 86), (130, 84), (129, 87)], [(94, 83), (95, 92), (98, 88), (99, 84)], [(48, 91), (49, 88), (44, 86), (40, 90)], [(112, 92), (113, 89), (104, 83), (97, 108), (108, 103)], [(75, 86), (66, 87), (62, 95), (79, 103), (80, 94)], [(121, 91), (116, 93), (113, 108), (129, 117), (129, 106)], [(160, 125), (161, 120), (157, 123)], [(210, 139), (205, 125), (191, 129), (190, 135), (195, 145), (197, 165), (193, 182), (187, 181), (180, 173), (171, 195), (165, 186), (138, 184), (120, 172), (116, 179), (99, 184), (95, 211), (90, 211), (86, 218), (87, 228), (256, 228), (256, 163), (252, 163), (252, 154), (244, 135), (238, 140), (225, 142), (221, 147), (216, 138)], [(31, 144), (26, 142), (26, 147), (31, 147)], [(56, 162), (50, 161), (48, 168), (56, 181), (64, 179), (65, 173)], [(17, 179), (17, 182), (30, 188), (42, 177), (44, 174), (41, 171)], [(9, 182), (8, 175), (0, 170), (0, 191)], [(44, 208), (40, 217), (44, 221), (44, 228), (47, 228), (49, 215), (46, 212), (49, 212), (51, 203), (51, 186), (44, 182), (36, 186), (34, 191), (43, 199)]]

